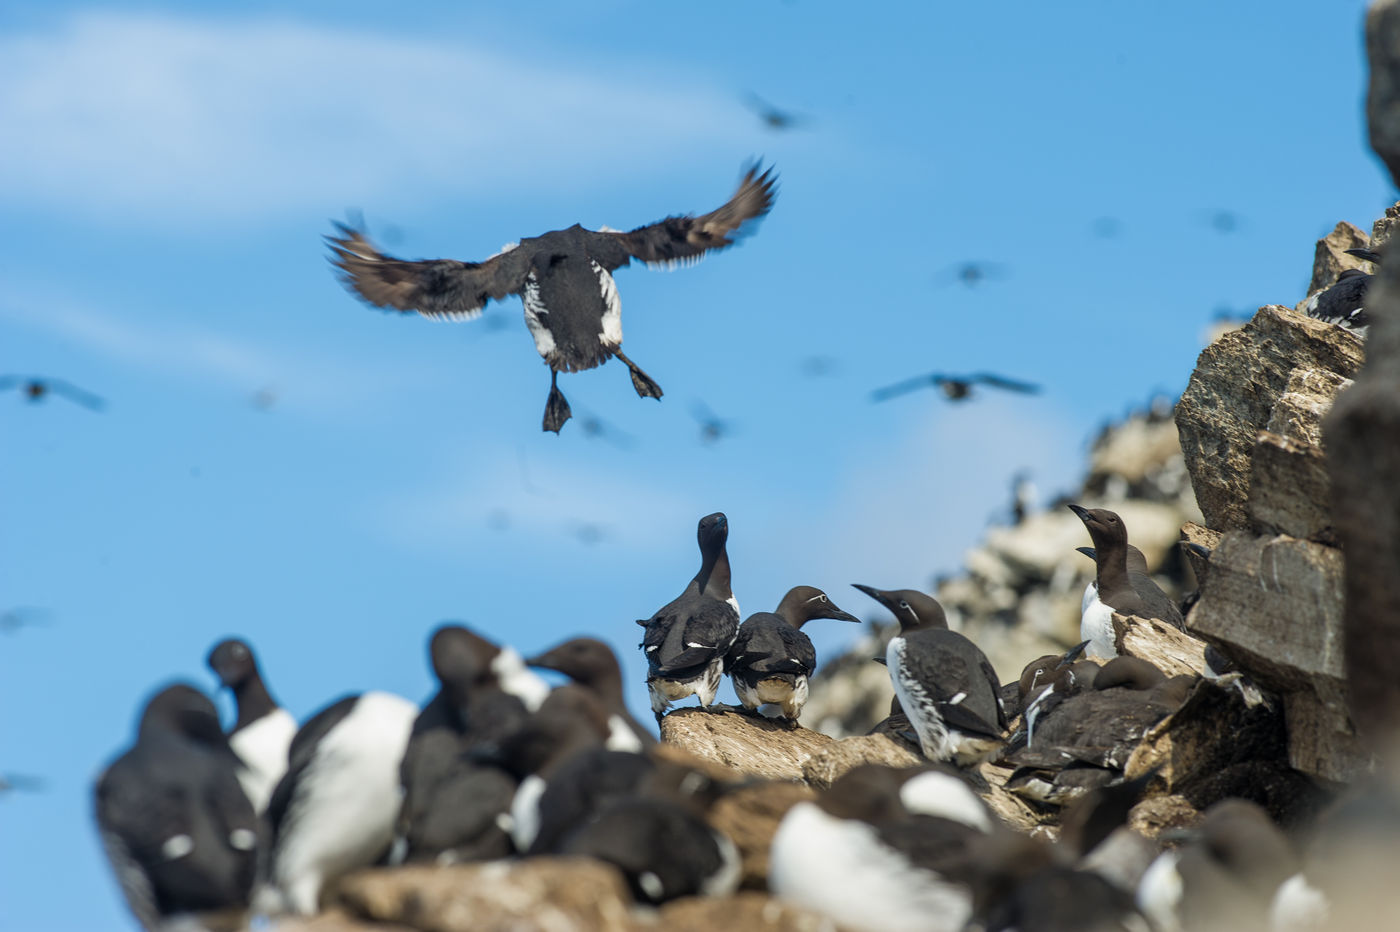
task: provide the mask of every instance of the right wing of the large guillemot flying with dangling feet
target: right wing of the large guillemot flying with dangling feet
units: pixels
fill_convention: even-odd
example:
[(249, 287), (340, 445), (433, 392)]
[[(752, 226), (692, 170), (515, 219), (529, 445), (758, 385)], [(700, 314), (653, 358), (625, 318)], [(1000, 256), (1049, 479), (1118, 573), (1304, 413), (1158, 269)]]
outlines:
[(718, 210), (700, 217), (666, 217), (665, 220), (637, 227), (631, 232), (603, 232), (620, 252), (599, 250), (605, 255), (609, 271), (640, 259), (647, 264), (672, 264), (696, 260), (711, 249), (732, 246), (745, 235), (745, 224), (757, 220), (773, 209), (777, 195), (777, 176), (771, 168), (759, 174), (760, 165), (749, 168), (734, 197)]

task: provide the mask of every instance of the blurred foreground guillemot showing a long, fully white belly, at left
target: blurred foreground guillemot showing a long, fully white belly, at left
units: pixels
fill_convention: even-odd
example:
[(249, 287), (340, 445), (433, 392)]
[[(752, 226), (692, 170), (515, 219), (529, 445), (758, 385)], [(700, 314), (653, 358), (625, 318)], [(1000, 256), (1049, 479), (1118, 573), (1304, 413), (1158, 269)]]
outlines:
[(266, 912), (311, 915), (325, 883), (378, 861), (403, 800), (399, 764), (419, 708), (391, 693), (347, 696), (311, 716), (267, 806)]

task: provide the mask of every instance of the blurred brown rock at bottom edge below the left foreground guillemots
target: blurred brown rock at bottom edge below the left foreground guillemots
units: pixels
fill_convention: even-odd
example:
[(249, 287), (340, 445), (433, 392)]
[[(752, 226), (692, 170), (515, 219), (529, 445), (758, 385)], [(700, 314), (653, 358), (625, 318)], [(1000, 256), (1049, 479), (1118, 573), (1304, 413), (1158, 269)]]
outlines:
[(339, 896), (358, 917), (424, 932), (633, 928), (622, 875), (587, 858), (361, 870)]

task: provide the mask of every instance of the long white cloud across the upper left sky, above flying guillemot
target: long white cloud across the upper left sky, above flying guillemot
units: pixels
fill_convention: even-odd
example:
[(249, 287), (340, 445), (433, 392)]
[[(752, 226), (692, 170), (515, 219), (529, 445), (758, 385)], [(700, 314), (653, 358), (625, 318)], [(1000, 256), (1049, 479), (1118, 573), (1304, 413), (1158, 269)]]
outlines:
[[(526, 46), (528, 48), (528, 46)], [(741, 139), (724, 95), (620, 63), (280, 20), (84, 13), (0, 38), (0, 199), (130, 223), (566, 189)]]

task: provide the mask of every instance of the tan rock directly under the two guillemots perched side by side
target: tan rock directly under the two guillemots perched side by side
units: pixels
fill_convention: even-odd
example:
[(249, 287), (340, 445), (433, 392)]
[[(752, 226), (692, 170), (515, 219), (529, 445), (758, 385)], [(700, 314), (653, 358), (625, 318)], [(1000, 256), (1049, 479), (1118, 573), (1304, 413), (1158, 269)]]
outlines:
[(734, 711), (678, 708), (661, 719), (661, 740), (750, 777), (802, 779), (806, 758), (832, 743), (805, 728)]

